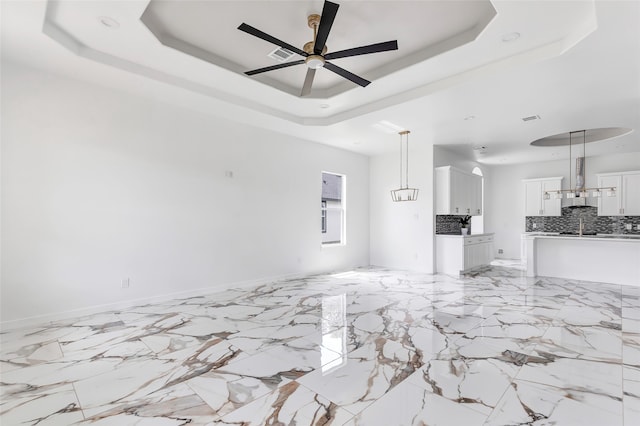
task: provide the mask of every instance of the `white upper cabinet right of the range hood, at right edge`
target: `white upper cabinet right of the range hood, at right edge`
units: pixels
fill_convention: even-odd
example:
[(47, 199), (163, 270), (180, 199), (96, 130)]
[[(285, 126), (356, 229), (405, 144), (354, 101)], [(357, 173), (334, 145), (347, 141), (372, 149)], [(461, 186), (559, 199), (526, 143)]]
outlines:
[(640, 171), (598, 174), (598, 187), (615, 187), (616, 196), (598, 198), (598, 216), (640, 216)]

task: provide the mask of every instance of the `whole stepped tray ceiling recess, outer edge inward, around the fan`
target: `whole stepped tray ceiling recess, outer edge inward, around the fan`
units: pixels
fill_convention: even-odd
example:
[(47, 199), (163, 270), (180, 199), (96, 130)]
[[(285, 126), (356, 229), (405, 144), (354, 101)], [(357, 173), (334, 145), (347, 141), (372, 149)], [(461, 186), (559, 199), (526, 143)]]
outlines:
[[(329, 49), (398, 39), (396, 52), (345, 58), (361, 88), (327, 70), (300, 98), (301, 69), (248, 77), (270, 46), (242, 22), (291, 43), (310, 39), (313, 1), (50, 1), (43, 31), (73, 53), (297, 124), (326, 126), (479, 75), (558, 56), (597, 27), (591, 2), (342, 1)], [(104, 25), (104, 19), (115, 26)], [(505, 42), (514, 32), (522, 36)], [(291, 73), (291, 74), (289, 74)]]

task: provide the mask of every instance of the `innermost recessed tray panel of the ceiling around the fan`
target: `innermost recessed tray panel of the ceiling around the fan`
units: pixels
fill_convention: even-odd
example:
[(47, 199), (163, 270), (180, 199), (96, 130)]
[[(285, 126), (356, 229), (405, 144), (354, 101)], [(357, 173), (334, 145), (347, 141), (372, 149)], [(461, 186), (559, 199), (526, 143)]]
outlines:
[[(277, 46), (240, 32), (240, 23), (302, 49), (313, 40), (307, 16), (321, 12), (321, 2), (152, 0), (141, 20), (163, 45), (243, 75), (280, 62), (268, 57)], [(488, 0), (364, 5), (343, 2), (327, 42), (327, 53), (398, 40), (397, 51), (332, 61), (359, 76), (377, 80), (473, 41), (495, 15)], [(301, 57), (293, 55), (290, 61), (296, 59)], [(297, 96), (306, 70), (300, 65), (251, 78)], [(326, 98), (353, 88), (353, 83), (324, 70), (317, 73), (311, 96)]]

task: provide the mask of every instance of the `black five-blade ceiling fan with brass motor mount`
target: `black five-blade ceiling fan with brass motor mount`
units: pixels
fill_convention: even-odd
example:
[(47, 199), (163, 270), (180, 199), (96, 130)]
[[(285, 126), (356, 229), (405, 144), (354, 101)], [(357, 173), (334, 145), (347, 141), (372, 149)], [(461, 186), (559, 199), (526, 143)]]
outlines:
[(273, 71), (281, 68), (291, 67), (294, 65), (306, 64), (308, 67), (307, 75), (304, 79), (304, 84), (302, 86), (302, 93), (300, 96), (306, 96), (311, 93), (311, 85), (313, 84), (313, 78), (316, 74), (316, 70), (318, 68), (326, 68), (329, 71), (333, 71), (341, 77), (346, 78), (347, 80), (351, 80), (352, 82), (366, 87), (369, 83), (368, 80), (365, 80), (362, 77), (359, 77), (344, 68), (340, 68), (339, 66), (328, 62), (332, 59), (339, 58), (347, 58), (349, 56), (358, 56), (358, 55), (368, 55), (370, 53), (377, 52), (386, 52), (389, 50), (397, 50), (398, 49), (398, 41), (386, 41), (383, 43), (370, 44), (368, 46), (360, 46), (354, 47), (352, 49), (340, 50), (338, 52), (327, 53), (327, 38), (329, 37), (329, 31), (331, 31), (331, 26), (333, 25), (333, 21), (336, 18), (336, 14), (338, 13), (339, 4), (332, 3), (330, 1), (325, 1), (324, 6), (322, 8), (322, 15), (310, 15), (307, 19), (307, 24), (310, 28), (313, 29), (313, 41), (310, 41), (304, 45), (302, 49), (298, 49), (295, 46), (292, 46), (289, 43), (286, 43), (282, 40), (279, 40), (273, 36), (270, 36), (267, 33), (260, 31), (257, 28), (252, 27), (251, 25), (247, 25), (242, 23), (238, 29), (240, 31), (244, 31), (248, 34), (251, 34), (255, 37), (261, 38), (262, 40), (268, 41), (269, 43), (273, 43), (282, 48), (288, 49), (294, 53), (297, 53), (300, 56), (303, 56), (305, 59), (300, 59), (292, 62), (285, 62), (278, 65), (272, 65), (269, 67), (259, 68), (252, 71), (246, 71), (247, 75), (260, 74), (267, 71)]

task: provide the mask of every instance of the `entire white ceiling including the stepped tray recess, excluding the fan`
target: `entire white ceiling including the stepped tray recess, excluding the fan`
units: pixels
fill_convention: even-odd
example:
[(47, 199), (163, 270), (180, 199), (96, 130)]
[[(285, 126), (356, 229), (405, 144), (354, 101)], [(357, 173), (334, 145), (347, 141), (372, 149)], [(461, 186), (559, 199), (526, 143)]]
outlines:
[[(589, 155), (640, 151), (640, 2), (337, 2), (331, 50), (391, 39), (399, 50), (339, 63), (372, 80), (366, 88), (320, 70), (311, 99), (292, 94), (304, 68), (302, 77), (242, 74), (271, 65), (275, 46), (235, 28), (246, 22), (303, 44), (318, 0), (3, 0), (2, 60), (368, 155), (397, 149), (381, 121), (411, 130), (412, 145), (449, 145), (486, 164), (563, 158), (562, 147), (529, 143), (596, 127), (636, 131), (590, 144)], [(159, 40), (141, 21), (147, 7), (170, 36)], [(513, 32), (521, 37), (502, 41)], [(541, 119), (522, 121), (532, 115)]]

